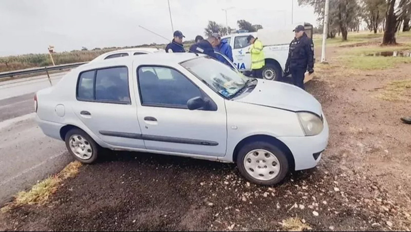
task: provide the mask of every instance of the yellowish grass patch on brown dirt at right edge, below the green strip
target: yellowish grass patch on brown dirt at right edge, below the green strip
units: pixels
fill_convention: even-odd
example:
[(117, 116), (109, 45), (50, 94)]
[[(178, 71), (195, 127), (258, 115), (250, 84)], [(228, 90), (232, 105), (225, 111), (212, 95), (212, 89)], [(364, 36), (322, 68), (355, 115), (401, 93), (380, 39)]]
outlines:
[(411, 80), (390, 82), (377, 98), (389, 102), (409, 101), (411, 97)]

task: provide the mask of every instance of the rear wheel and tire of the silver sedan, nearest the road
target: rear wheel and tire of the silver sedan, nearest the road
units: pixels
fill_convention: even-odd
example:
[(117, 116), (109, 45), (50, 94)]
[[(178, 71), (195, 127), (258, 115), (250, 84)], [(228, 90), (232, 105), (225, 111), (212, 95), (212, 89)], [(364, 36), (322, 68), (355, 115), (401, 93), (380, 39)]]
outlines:
[(77, 128), (67, 132), (65, 142), (71, 156), (83, 164), (94, 163), (101, 150), (100, 146), (86, 132)]

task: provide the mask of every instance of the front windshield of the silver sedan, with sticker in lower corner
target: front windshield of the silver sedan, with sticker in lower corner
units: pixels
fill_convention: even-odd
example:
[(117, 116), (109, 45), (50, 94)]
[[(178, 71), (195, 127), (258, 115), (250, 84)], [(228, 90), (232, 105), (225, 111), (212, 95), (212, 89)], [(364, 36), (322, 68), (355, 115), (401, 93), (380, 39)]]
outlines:
[(183, 62), (181, 65), (225, 98), (232, 98), (251, 80), (241, 72), (207, 56)]

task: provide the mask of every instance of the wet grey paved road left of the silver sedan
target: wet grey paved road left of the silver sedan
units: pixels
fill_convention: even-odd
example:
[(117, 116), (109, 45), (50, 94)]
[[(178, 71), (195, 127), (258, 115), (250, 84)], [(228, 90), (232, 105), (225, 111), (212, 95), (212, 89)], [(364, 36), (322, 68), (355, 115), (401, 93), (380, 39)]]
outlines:
[[(53, 74), (52, 83), (61, 77)], [(34, 92), (49, 86), (44, 75), (0, 82), (0, 205), (71, 161), (64, 142), (44, 136), (34, 121)]]

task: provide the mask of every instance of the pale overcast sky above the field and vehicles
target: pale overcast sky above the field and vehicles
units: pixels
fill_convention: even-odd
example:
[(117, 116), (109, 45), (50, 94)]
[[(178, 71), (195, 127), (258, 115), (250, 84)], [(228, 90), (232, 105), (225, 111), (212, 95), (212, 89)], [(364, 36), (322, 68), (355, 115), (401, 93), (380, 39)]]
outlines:
[[(291, 27), (294, 23), (316, 25), (311, 7), (299, 7), (297, 0), (170, 0), (173, 25), (186, 40), (203, 35), (209, 20), (228, 24), (247, 20), (264, 27)], [(141, 25), (170, 40), (173, 37), (167, 0), (0, 0), (0, 56), (45, 53), (82, 46), (121, 47), (167, 43)]]

